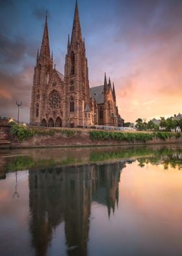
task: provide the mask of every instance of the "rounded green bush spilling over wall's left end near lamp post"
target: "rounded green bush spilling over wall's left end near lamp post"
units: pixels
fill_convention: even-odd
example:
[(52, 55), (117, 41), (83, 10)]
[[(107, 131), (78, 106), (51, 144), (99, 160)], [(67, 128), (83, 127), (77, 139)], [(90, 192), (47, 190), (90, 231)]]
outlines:
[(19, 140), (31, 138), (35, 133), (31, 129), (23, 125), (12, 125), (10, 133), (16, 136)]

